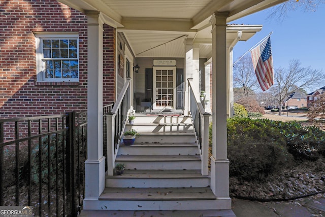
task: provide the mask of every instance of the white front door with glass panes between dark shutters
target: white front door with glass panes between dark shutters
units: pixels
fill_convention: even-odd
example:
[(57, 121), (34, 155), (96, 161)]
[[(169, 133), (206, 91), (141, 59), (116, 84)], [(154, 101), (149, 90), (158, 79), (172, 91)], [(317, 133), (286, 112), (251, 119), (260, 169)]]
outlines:
[(153, 109), (175, 109), (176, 67), (153, 68)]

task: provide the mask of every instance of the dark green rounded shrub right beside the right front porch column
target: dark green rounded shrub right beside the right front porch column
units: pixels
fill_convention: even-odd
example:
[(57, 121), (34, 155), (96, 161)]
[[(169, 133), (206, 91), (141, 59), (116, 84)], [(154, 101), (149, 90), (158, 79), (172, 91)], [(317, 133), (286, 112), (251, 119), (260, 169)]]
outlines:
[(291, 163), (281, 130), (268, 119), (229, 118), (228, 158), (230, 176), (243, 180), (263, 180)]

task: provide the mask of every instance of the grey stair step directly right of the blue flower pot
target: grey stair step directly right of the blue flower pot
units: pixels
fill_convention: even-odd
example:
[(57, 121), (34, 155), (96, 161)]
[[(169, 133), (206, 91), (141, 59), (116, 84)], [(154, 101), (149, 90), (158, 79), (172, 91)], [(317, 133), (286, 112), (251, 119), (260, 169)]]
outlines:
[(136, 138), (137, 143), (172, 143), (172, 142), (184, 142), (191, 143), (196, 142), (194, 132), (143, 132)]

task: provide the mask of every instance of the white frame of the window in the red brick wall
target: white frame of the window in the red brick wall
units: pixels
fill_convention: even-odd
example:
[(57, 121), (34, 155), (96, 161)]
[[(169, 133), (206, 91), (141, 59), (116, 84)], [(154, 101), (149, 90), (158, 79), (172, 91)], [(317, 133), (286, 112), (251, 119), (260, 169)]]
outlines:
[[(62, 82), (62, 81), (71, 81), (79, 82), (80, 78), (80, 60), (79, 60), (79, 34), (78, 32), (36, 32), (34, 33), (36, 40), (36, 70), (37, 70), (37, 81), (45, 82)], [(43, 39), (75, 39), (77, 40), (77, 59), (78, 60), (78, 78), (46, 78), (45, 76), (45, 62), (44, 53), (43, 53)], [(54, 59), (54, 58), (51, 58)], [(60, 60), (61, 58), (55, 58)], [(69, 58), (64, 58), (69, 59)]]

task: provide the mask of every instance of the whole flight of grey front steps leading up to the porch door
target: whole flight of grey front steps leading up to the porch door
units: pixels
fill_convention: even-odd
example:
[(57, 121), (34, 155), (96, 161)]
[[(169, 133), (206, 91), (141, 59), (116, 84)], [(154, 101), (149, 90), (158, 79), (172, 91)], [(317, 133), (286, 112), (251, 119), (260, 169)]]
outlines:
[[(171, 122), (174, 121), (174, 122)], [(115, 164), (122, 175), (107, 176), (98, 203), (103, 210), (229, 210), (230, 198), (216, 198), (210, 176), (201, 174), (201, 158), (186, 116), (137, 116), (140, 133), (131, 146), (120, 144)], [(159, 129), (159, 130), (158, 130)], [(161, 130), (163, 129), (163, 130)], [(91, 201), (87, 204), (91, 205)]]

